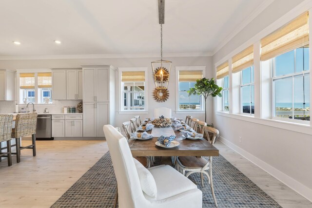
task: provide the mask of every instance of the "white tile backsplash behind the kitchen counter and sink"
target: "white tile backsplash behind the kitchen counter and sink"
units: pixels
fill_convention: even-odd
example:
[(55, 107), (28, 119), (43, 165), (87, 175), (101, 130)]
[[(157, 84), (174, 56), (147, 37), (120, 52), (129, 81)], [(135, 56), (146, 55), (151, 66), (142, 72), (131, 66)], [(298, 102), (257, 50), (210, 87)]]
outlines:
[[(64, 106), (77, 107), (78, 103), (82, 100), (54, 100), (53, 104), (35, 104), (37, 113), (43, 113), (45, 108), (48, 108), (49, 113), (63, 113)], [(19, 105), (19, 111), (25, 104)], [(29, 111), (32, 111), (33, 106), (30, 105)], [(15, 112), (15, 101), (0, 101), (0, 113), (13, 113)]]

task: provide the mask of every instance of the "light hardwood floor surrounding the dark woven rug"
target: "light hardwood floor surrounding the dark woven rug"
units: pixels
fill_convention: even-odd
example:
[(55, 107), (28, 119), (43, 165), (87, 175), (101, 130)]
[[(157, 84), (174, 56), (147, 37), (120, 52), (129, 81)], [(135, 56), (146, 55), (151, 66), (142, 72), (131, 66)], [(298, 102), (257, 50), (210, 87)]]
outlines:
[[(23, 141), (25, 145), (30, 141)], [(285, 208), (312, 203), (223, 143), (220, 153)], [(105, 141), (37, 141), (37, 156), (23, 150), (21, 162), (0, 162), (0, 208), (49, 208), (108, 151)]]

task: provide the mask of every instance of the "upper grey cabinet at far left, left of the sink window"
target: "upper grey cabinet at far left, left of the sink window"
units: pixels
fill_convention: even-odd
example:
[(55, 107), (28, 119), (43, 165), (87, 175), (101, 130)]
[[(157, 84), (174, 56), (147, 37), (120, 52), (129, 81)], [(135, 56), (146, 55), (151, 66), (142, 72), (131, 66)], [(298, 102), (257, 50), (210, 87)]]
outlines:
[(15, 100), (15, 72), (0, 70), (0, 100)]

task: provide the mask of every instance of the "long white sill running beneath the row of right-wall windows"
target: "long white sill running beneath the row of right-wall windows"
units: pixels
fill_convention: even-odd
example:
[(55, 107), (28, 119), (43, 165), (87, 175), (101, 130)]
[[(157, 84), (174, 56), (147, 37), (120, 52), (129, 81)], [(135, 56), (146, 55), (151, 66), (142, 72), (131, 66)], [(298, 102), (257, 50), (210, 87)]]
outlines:
[(310, 122), (307, 124), (299, 124), (287, 121), (274, 120), (269, 118), (255, 118), (254, 116), (247, 116), (242, 114), (230, 114), (225, 112), (215, 112), (215, 115), (225, 116), (233, 119), (243, 120), (247, 122), (252, 122), (256, 124), (266, 125), (270, 127), (275, 127), (279, 129), (285, 129), (293, 132), (300, 132), (312, 135), (312, 128)]

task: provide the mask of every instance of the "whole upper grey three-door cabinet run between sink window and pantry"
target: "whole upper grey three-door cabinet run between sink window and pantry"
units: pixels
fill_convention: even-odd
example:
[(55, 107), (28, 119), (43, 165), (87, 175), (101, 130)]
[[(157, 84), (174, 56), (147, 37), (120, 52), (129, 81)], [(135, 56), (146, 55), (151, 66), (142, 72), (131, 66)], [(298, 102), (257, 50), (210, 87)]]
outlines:
[(53, 69), (52, 99), (82, 100), (82, 70)]

